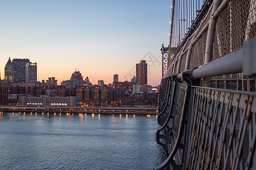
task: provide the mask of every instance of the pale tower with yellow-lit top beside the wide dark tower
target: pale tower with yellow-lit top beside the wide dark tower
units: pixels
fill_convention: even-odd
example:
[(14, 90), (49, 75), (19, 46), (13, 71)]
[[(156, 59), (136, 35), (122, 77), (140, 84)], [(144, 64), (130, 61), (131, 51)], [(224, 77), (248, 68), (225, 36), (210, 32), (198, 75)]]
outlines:
[(37, 82), (37, 66), (36, 62), (28, 62), (26, 63), (26, 83), (35, 83)]

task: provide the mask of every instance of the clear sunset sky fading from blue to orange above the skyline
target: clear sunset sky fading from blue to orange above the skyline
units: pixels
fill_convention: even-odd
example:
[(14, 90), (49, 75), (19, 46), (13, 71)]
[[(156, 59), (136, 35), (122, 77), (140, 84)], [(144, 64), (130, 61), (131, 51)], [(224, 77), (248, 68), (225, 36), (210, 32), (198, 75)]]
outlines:
[(38, 81), (70, 79), (77, 69), (90, 82), (130, 81), (141, 59), (148, 84), (162, 78), (160, 48), (168, 45), (171, 0), (0, 1), (0, 73), (9, 57), (29, 58)]

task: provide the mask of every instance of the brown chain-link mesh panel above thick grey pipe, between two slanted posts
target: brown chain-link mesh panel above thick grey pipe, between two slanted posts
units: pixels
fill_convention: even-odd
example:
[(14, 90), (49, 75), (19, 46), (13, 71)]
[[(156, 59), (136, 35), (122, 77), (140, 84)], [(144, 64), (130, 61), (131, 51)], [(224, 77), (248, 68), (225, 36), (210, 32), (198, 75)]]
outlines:
[(236, 0), (230, 1), (221, 12), (216, 23), (212, 61), (242, 49), (247, 26), (251, 25), (248, 23), (249, 9), (250, 0)]

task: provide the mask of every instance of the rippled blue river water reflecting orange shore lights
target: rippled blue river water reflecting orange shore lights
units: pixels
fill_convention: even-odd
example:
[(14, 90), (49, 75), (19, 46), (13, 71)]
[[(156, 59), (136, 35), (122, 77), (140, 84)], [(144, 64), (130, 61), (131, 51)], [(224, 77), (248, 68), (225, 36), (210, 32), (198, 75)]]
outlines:
[(152, 169), (156, 116), (2, 113), (0, 169)]

